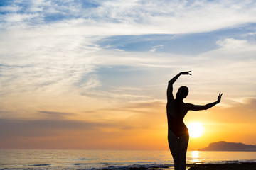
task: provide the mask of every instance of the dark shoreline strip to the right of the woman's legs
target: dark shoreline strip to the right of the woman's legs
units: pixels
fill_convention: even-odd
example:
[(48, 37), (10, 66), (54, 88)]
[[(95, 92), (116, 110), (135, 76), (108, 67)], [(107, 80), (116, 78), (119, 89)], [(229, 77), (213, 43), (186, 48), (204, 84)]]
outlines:
[(188, 170), (256, 170), (256, 162), (223, 163), (223, 164), (187, 164)]

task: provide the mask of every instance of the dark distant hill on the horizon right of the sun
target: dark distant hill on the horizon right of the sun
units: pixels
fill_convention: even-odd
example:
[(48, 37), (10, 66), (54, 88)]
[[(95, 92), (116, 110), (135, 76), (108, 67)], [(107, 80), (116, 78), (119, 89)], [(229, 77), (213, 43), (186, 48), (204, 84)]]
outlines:
[(245, 145), (234, 142), (213, 142), (208, 147), (198, 149), (199, 151), (256, 151), (256, 145)]

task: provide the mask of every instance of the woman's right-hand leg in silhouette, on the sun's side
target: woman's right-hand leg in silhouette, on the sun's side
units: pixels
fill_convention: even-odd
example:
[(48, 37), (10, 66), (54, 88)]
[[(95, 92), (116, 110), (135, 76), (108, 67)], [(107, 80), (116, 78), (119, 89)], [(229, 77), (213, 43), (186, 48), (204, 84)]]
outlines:
[(179, 138), (180, 149), (179, 149), (179, 170), (186, 170), (186, 152), (188, 149), (189, 135), (183, 135)]

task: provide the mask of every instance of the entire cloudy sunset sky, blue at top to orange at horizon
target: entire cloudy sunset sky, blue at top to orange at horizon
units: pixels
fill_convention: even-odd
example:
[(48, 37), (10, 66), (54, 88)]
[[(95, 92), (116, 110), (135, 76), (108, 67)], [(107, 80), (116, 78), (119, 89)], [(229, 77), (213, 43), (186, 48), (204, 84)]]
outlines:
[(1, 0), (0, 149), (168, 150), (166, 88), (210, 142), (256, 145), (256, 2)]

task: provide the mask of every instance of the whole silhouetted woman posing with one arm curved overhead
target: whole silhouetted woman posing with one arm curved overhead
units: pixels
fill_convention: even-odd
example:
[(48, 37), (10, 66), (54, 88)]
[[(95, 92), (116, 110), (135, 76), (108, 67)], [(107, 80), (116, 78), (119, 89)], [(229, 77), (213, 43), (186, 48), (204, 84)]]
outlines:
[(178, 89), (176, 98), (172, 94), (173, 84), (181, 75), (191, 75), (189, 72), (180, 72), (169, 81), (167, 88), (167, 120), (168, 120), (168, 142), (171, 154), (174, 158), (175, 170), (186, 170), (186, 151), (188, 148), (188, 128), (183, 123), (183, 118), (188, 111), (206, 110), (220, 103), (221, 96), (213, 103), (208, 103), (204, 106), (184, 103), (183, 99), (188, 96), (188, 87), (181, 86)]

